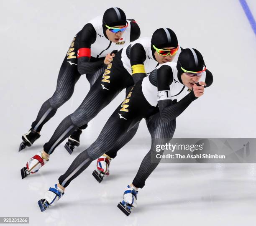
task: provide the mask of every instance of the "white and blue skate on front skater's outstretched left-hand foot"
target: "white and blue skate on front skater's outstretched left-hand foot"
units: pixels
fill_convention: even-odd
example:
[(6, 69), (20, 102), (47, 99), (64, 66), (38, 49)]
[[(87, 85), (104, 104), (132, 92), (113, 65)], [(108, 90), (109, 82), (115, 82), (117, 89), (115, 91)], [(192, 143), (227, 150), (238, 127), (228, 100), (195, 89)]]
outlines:
[(49, 208), (49, 206), (54, 206), (63, 195), (64, 191), (57, 185), (54, 185), (54, 188), (50, 187), (49, 190), (44, 194), (44, 198), (40, 199), (37, 203), (43, 212), (46, 210), (46, 208)]

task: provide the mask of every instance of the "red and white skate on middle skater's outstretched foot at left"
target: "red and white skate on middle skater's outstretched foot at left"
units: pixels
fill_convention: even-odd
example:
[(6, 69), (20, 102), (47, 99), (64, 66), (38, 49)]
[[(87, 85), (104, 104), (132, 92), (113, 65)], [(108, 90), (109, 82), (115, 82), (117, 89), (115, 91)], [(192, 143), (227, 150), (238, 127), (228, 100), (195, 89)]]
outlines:
[(22, 179), (26, 178), (26, 176), (31, 173), (37, 173), (38, 170), (49, 161), (49, 158), (43, 157), (42, 153), (43, 151), (40, 151), (34, 155), (30, 160), (28, 160), (26, 167), (23, 167), (20, 170)]

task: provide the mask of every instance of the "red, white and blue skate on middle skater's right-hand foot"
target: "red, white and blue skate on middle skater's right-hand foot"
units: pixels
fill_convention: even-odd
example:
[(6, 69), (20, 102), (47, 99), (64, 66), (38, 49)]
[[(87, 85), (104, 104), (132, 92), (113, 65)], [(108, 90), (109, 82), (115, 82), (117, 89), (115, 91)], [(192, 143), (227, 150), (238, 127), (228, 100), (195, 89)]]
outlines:
[(104, 154), (100, 156), (97, 160), (97, 169), (92, 172), (92, 175), (100, 183), (105, 175), (109, 175), (109, 165), (111, 158)]

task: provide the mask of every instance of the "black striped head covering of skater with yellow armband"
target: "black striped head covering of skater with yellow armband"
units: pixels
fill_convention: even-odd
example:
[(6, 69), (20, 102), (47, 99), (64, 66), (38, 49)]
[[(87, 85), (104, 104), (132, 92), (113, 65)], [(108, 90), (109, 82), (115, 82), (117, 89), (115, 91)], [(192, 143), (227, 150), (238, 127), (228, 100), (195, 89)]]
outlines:
[(159, 28), (152, 35), (151, 45), (156, 46), (156, 48), (177, 47), (178, 39), (170, 28)]

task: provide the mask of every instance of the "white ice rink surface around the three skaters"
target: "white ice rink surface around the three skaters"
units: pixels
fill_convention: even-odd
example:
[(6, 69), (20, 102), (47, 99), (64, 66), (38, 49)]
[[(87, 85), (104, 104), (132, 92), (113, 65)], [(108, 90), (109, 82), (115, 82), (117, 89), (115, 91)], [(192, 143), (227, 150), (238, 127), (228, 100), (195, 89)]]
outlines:
[[(247, 0), (256, 16), (256, 2)], [(31, 148), (18, 152), (41, 104), (54, 92), (59, 68), (74, 35), (88, 20), (110, 7), (122, 8), (141, 27), (141, 37), (168, 27), (183, 48), (197, 48), (214, 82), (204, 96), (177, 118), (174, 137), (256, 138), (256, 37), (238, 0), (180, 1), (3, 1), (1, 39), (0, 216), (29, 217), (30, 225), (207, 225), (256, 223), (255, 164), (160, 164), (139, 190), (138, 208), (126, 217), (118, 208), (150, 148), (144, 121), (120, 150), (101, 184), (93, 162), (66, 189), (59, 203), (41, 213), (37, 201), (57, 183), (74, 157), (97, 138), (124, 92), (102, 110), (82, 133), (72, 155), (64, 142), (47, 166), (21, 180), (20, 168), (42, 149), (61, 120), (89, 90), (85, 76), (72, 98), (44, 126)]]

